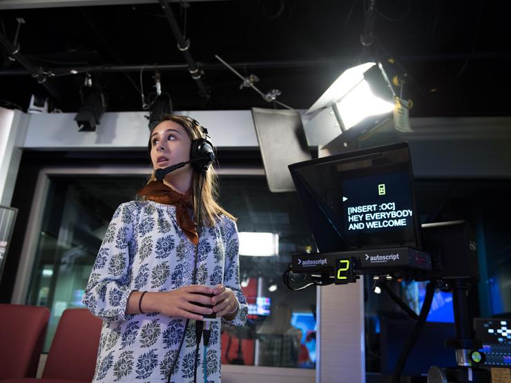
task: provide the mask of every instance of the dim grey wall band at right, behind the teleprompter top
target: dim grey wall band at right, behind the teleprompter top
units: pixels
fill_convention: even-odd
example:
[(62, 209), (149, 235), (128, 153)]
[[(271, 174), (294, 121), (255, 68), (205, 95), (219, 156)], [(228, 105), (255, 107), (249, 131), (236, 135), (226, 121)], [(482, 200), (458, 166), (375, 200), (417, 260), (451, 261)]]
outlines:
[[(410, 119), (413, 132), (392, 124), (359, 141), (363, 148), (407, 141), (415, 177), (511, 177), (511, 117), (421, 117)], [(345, 151), (342, 135), (325, 145)]]

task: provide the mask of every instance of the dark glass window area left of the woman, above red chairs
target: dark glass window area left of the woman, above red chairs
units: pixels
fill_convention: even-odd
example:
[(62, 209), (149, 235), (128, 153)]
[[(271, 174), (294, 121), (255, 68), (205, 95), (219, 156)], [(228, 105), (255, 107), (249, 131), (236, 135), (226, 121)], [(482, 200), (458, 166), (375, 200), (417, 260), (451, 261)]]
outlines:
[(44, 352), (62, 312), (83, 307), (81, 297), (108, 223), (142, 184), (144, 177), (50, 179), (28, 295), (28, 304), (51, 311)]

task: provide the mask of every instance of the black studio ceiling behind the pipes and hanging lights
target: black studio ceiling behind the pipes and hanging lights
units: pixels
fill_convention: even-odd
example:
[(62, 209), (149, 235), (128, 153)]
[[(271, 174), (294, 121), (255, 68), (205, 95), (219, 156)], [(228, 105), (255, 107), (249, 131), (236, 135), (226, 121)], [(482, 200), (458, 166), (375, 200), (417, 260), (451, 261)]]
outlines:
[[(161, 71), (162, 88), (171, 94), (175, 110), (273, 107), (255, 91), (240, 90), (241, 80), (216, 54), (243, 75), (257, 75), (256, 86), (263, 92), (280, 90), (278, 100), (293, 108), (309, 108), (349, 66), (393, 57), (407, 72), (412, 117), (510, 115), (508, 16), (483, 0), (376, 0), (374, 42), (365, 50), (360, 34), (369, 0), (173, 2), (191, 54), (204, 69), (209, 99), (200, 97), (157, 2), (83, 6), (90, 2), (67, 1), (82, 6), (21, 9), (10, 0), (10, 8), (18, 9), (6, 9), (3, 1), (0, 33), (12, 42), (16, 19), (22, 17), (20, 53), (35, 67), (58, 72), (178, 64)], [(0, 51), (0, 105), (26, 110), (32, 93), (48, 95), (18, 62), (8, 59), (3, 46)], [(140, 72), (92, 73), (109, 97), (108, 110), (142, 110)], [(146, 96), (153, 92), (153, 75), (154, 70), (142, 72)], [(53, 97), (55, 106), (77, 111), (83, 81), (83, 73), (48, 78), (46, 84), (60, 95), (60, 100)]]

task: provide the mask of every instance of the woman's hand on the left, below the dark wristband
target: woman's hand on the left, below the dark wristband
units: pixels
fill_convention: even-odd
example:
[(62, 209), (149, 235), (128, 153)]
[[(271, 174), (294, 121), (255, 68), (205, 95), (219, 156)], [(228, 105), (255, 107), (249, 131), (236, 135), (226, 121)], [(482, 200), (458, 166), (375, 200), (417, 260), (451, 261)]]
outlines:
[(211, 293), (213, 288), (200, 284), (184, 286), (173, 291), (149, 292), (142, 300), (142, 311), (144, 313), (158, 312), (168, 317), (203, 320), (202, 315), (211, 314), (213, 311), (209, 307), (197, 306), (197, 303), (212, 306), (211, 297), (202, 295)]

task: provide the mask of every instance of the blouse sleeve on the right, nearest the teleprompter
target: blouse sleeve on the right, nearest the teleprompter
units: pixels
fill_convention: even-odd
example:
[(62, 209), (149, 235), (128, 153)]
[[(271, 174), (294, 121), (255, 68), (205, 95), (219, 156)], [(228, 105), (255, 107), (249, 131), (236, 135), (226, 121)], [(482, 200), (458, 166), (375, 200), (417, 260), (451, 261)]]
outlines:
[(224, 268), (224, 286), (229, 287), (236, 299), (238, 299), (239, 309), (238, 313), (233, 320), (226, 321), (222, 318), (223, 322), (233, 324), (234, 326), (243, 326), (247, 320), (247, 314), (249, 312), (249, 306), (247, 305), (247, 299), (243, 295), (243, 291), (240, 287), (240, 262), (238, 250), (240, 248), (240, 242), (238, 239), (238, 228), (231, 219), (227, 220), (224, 228), (225, 235), (225, 268)]

